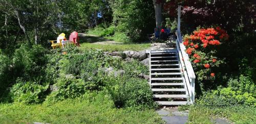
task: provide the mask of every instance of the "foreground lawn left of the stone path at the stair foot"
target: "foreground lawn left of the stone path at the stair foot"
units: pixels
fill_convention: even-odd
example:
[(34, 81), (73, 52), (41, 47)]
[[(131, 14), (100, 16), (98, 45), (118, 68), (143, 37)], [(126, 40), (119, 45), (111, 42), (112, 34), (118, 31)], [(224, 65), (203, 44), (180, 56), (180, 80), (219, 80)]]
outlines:
[(65, 100), (55, 104), (0, 104), (0, 123), (162, 123), (155, 110), (116, 109), (113, 102)]

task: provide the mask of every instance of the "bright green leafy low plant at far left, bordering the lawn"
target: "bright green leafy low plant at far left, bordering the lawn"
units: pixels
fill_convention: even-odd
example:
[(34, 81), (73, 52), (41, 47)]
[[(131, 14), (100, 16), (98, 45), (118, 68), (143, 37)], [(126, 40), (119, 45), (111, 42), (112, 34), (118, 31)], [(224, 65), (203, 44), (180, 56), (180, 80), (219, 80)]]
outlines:
[(49, 85), (36, 82), (18, 82), (12, 86), (10, 95), (14, 102), (32, 104), (41, 103), (47, 94)]

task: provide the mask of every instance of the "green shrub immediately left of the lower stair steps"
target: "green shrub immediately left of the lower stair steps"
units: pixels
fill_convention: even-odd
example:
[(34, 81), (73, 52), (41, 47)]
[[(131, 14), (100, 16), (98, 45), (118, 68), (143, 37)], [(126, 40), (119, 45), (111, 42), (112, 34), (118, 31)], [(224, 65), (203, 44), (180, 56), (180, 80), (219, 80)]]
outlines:
[(117, 108), (147, 109), (156, 107), (153, 101), (153, 92), (145, 80), (109, 76), (104, 81)]

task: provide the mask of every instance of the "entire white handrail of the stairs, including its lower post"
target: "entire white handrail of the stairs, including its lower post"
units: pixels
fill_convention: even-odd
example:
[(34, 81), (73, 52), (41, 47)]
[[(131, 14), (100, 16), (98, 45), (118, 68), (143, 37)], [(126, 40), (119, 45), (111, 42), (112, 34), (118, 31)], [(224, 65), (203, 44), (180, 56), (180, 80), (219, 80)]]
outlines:
[(188, 90), (188, 95), (190, 97), (190, 103), (193, 104), (195, 102), (195, 80), (196, 75), (194, 72), (194, 69), (191, 65), (191, 62), (189, 61), (189, 57), (187, 53), (185, 53), (186, 47), (182, 43), (182, 35), (180, 31), (176, 31), (177, 40), (176, 47), (177, 51), (179, 53), (180, 62), (182, 65), (184, 78)]

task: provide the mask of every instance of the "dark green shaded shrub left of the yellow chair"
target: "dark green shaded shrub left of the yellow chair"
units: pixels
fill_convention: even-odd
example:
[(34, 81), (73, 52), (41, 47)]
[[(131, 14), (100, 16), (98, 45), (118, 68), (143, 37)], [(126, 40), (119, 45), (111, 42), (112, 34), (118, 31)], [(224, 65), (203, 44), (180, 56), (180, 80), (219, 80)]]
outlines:
[(47, 50), (41, 45), (33, 45), (29, 48), (26, 45), (16, 49), (13, 55), (13, 66), (16, 77), (22, 77), (25, 81), (44, 80), (45, 66), (47, 63)]

